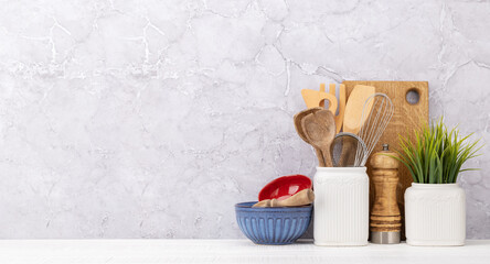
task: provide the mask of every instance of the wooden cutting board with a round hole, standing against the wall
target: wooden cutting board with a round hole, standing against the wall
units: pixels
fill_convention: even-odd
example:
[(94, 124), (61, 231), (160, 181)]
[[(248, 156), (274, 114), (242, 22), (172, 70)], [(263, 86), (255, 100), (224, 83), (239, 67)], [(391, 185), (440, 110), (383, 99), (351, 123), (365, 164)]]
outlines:
[[(370, 80), (344, 80), (348, 100), (352, 89), (356, 85), (374, 86), (376, 92), (383, 92), (388, 96), (395, 108), (395, 112), (386, 130), (381, 136), (373, 153), (382, 150), (383, 144), (390, 144), (390, 150), (397, 150), (398, 134), (413, 136), (413, 130), (422, 123), (428, 122), (428, 82), (427, 81), (370, 81)], [(418, 95), (418, 101), (416, 101)], [(416, 101), (416, 102), (415, 102)], [(368, 161), (368, 175), (371, 176), (371, 165)], [(405, 166), (398, 170), (400, 182), (396, 193), (400, 211), (402, 212), (402, 238), (405, 238), (404, 221), (404, 194), (405, 189), (412, 184), (412, 175)], [(372, 180), (370, 180), (372, 183)], [(374, 186), (370, 186), (370, 208), (374, 198)]]

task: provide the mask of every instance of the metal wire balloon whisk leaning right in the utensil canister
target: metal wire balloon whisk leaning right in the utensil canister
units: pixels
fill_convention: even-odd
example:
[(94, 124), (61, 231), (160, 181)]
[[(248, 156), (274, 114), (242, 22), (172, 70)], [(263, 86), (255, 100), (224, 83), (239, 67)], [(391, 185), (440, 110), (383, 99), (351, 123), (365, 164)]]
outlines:
[(362, 147), (358, 147), (355, 153), (355, 160), (361, 161), (361, 166), (364, 166), (368, 162), (369, 156), (390, 123), (393, 112), (393, 102), (385, 94), (376, 92), (365, 100), (361, 120), (364, 120), (365, 116), (368, 118), (358, 134), (364, 141), (365, 151), (362, 151)]

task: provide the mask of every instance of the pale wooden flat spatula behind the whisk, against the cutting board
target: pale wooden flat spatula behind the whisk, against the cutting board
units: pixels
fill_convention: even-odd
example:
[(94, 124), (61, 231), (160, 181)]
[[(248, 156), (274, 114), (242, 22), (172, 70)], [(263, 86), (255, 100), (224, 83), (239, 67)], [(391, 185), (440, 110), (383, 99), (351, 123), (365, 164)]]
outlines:
[[(369, 114), (362, 117), (364, 102), (376, 92), (372, 86), (356, 85), (349, 96), (349, 101), (345, 106), (345, 113), (343, 117), (343, 132), (358, 134)], [(365, 108), (365, 112), (370, 113), (373, 108), (373, 100), (370, 100)], [(362, 118), (362, 120), (361, 120)]]

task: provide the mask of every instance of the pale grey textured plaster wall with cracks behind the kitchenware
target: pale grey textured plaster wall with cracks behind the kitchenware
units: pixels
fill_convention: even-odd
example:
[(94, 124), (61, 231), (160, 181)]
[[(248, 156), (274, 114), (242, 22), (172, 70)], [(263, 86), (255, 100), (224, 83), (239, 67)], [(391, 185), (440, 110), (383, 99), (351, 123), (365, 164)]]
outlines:
[[(490, 1), (0, 3), (0, 238), (243, 238), (233, 205), (312, 175), (300, 89), (428, 80), (490, 139)], [(489, 147), (461, 184), (490, 239)]]

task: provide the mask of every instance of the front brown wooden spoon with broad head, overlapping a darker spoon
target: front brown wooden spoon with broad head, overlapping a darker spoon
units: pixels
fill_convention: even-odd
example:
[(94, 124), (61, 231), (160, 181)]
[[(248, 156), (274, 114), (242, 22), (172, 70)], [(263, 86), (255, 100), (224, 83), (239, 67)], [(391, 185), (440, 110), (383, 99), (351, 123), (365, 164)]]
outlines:
[(330, 144), (335, 136), (333, 113), (326, 109), (310, 113), (301, 120), (301, 127), (310, 144), (321, 150), (324, 165), (332, 167)]

